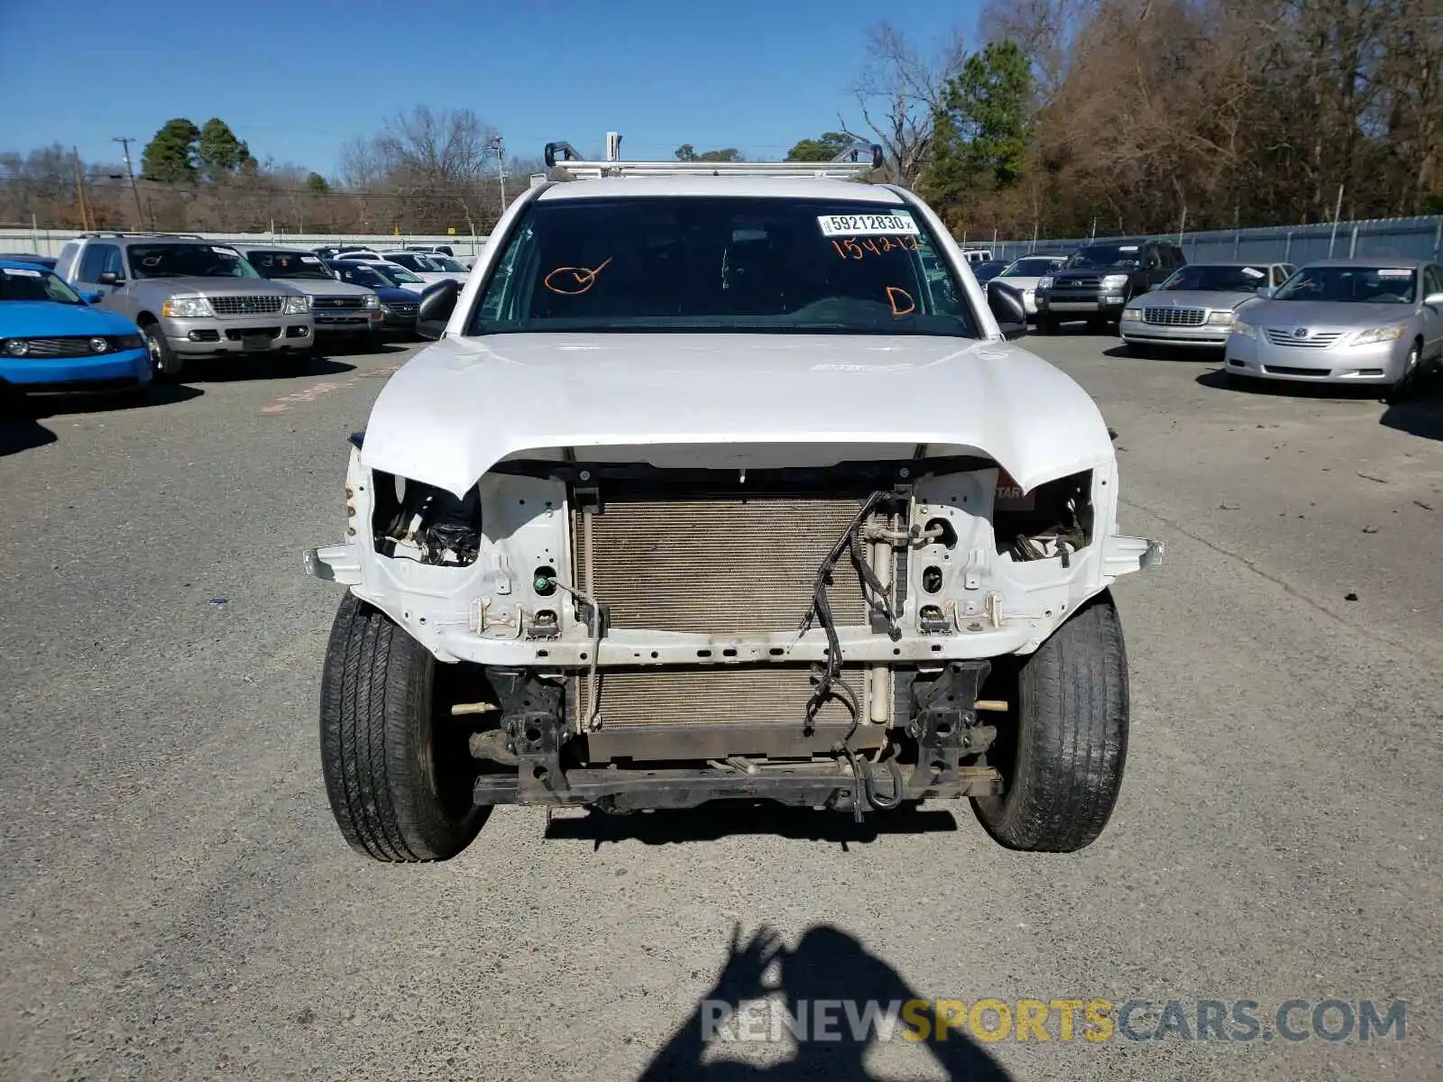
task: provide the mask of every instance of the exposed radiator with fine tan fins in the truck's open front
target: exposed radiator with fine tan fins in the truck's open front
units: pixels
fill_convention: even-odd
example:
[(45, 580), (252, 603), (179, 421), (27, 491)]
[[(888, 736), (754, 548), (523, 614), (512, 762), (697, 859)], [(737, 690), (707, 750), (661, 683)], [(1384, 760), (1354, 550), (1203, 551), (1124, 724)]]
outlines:
[[(600, 512), (592, 518), (590, 591), (609, 606), (612, 628), (717, 636), (798, 630), (811, 609), (818, 567), (864, 502), (864, 493), (691, 498), (644, 483), (603, 486)], [(574, 512), (571, 551), (577, 581), (584, 583), (582, 524), (582, 512)], [(867, 623), (847, 555), (837, 564), (828, 599), (837, 626)], [(847, 682), (864, 711), (861, 677), (848, 667)], [(579, 716), (587, 717), (586, 681), (574, 679), (571, 688)], [(610, 671), (602, 675), (602, 727), (736, 723), (801, 729), (810, 697), (807, 665)], [(821, 724), (848, 721), (837, 701), (818, 714)]]

